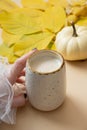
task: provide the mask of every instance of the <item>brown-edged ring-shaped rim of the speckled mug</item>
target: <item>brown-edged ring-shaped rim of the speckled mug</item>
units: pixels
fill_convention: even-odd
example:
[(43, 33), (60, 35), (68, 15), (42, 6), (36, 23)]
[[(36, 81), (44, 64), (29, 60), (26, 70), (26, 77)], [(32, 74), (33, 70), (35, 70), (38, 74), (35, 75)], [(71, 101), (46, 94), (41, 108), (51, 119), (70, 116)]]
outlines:
[[(38, 71), (35, 71), (35, 70), (30, 66), (30, 61), (29, 61), (29, 60), (30, 60), (30, 58), (31, 58), (32, 56), (34, 56), (34, 55), (36, 55), (36, 54), (38, 54), (38, 53), (40, 53), (40, 52), (51, 52), (51, 53), (54, 53), (54, 54), (60, 56), (60, 58), (62, 59), (62, 63), (61, 63), (61, 65), (60, 65), (60, 67), (59, 67), (58, 69), (52, 71), (52, 72), (38, 72)], [(48, 75), (48, 74), (56, 73), (56, 72), (60, 71), (60, 70), (63, 68), (64, 64), (65, 64), (65, 60), (64, 60), (63, 56), (62, 56), (59, 52), (57, 52), (57, 51), (55, 51), (55, 50), (48, 50), (48, 49), (38, 50), (38, 51), (34, 52), (33, 54), (31, 54), (31, 55), (29, 56), (29, 58), (27, 59), (27, 65), (28, 65), (29, 69), (31, 70), (31, 72), (36, 73), (36, 74), (40, 74), (40, 75)]]

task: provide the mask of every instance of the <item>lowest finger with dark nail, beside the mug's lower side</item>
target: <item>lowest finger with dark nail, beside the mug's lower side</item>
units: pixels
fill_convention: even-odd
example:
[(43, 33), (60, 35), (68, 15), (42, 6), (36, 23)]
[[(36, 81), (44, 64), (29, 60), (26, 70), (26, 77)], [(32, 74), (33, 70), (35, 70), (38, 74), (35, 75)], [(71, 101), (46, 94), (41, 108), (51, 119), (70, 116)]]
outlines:
[(26, 104), (27, 102), (27, 95), (26, 94), (21, 94), (19, 96), (16, 96), (13, 98), (13, 103), (12, 107), (22, 107)]

